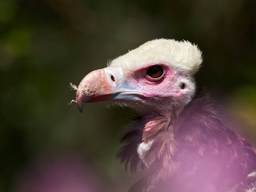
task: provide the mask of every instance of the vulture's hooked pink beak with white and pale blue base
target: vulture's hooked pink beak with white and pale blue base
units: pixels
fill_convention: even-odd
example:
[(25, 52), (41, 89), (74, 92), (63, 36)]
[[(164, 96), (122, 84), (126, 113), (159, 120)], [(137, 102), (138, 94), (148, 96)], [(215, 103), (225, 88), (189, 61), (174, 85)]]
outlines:
[(136, 100), (141, 93), (125, 83), (121, 67), (106, 67), (90, 72), (76, 88), (76, 102), (79, 111), (83, 111), (85, 102), (104, 100)]

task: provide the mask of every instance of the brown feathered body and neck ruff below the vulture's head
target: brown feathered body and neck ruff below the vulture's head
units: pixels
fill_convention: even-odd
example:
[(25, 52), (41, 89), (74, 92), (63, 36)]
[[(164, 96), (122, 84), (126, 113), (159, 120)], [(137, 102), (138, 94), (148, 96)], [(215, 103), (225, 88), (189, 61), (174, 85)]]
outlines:
[[(152, 120), (156, 123), (147, 129)], [(132, 192), (238, 192), (253, 187), (256, 174), (248, 174), (256, 170), (256, 150), (223, 124), (205, 91), (196, 93), (179, 114), (150, 114), (131, 127), (120, 140), (125, 145), (118, 158), (132, 172), (143, 164), (138, 145), (152, 141), (143, 156), (147, 175), (132, 186)]]

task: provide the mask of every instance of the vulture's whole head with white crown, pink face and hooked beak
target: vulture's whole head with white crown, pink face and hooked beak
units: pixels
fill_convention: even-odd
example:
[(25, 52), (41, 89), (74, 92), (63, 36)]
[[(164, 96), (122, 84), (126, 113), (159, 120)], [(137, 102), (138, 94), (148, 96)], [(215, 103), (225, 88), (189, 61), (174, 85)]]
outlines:
[(201, 63), (202, 52), (190, 42), (152, 40), (85, 76), (77, 106), (82, 112), (86, 102), (109, 101), (142, 113), (182, 109), (195, 94)]

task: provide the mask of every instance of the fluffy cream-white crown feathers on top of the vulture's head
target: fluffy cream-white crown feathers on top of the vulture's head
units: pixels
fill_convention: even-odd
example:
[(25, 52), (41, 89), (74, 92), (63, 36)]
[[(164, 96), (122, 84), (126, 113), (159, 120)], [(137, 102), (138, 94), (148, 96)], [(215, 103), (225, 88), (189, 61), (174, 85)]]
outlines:
[(165, 64), (193, 76), (202, 63), (202, 52), (188, 41), (156, 39), (119, 56), (109, 63), (121, 66), (124, 70), (136, 70), (148, 64)]

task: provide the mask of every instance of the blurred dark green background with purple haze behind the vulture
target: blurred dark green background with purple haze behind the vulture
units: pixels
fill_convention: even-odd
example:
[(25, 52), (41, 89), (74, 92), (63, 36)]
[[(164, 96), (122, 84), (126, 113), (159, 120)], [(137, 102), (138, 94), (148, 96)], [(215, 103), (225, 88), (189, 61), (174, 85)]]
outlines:
[(86, 104), (88, 72), (155, 38), (204, 52), (196, 74), (256, 146), (256, 1), (0, 0), (0, 191), (127, 191), (115, 158), (129, 112)]

